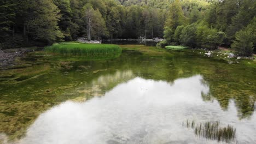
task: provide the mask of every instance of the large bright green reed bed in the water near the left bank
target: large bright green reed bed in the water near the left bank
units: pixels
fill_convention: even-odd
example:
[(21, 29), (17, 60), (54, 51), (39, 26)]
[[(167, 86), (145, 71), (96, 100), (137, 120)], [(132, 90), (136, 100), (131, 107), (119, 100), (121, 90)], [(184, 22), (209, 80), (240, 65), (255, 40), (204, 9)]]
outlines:
[(104, 56), (121, 53), (121, 48), (112, 44), (61, 43), (47, 46), (44, 49), (46, 52), (74, 56)]

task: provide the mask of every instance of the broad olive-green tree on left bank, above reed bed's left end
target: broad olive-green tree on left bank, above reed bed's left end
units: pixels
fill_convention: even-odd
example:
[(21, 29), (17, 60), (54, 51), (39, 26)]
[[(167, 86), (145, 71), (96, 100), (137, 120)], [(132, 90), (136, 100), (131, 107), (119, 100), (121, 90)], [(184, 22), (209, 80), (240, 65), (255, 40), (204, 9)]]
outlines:
[(33, 13), (25, 26), (30, 31), (27, 34), (34, 40), (45, 41), (53, 44), (63, 38), (62, 32), (57, 27), (61, 17), (60, 10), (51, 0), (36, 1), (32, 7)]

